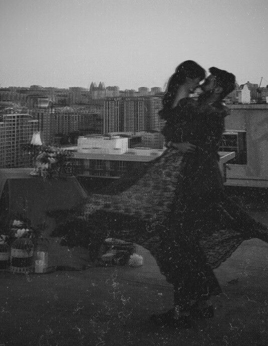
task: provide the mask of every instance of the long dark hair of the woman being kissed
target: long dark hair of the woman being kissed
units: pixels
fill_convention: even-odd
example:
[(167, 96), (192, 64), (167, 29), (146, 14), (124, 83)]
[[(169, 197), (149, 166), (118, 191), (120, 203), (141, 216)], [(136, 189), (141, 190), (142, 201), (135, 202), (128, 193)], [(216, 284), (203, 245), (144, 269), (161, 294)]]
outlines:
[(169, 118), (169, 112), (172, 109), (178, 87), (185, 82), (186, 77), (204, 79), (205, 76), (205, 70), (195, 61), (186, 60), (179, 64), (175, 72), (169, 78), (166, 92), (162, 99), (163, 108), (159, 111), (159, 116), (164, 120)]

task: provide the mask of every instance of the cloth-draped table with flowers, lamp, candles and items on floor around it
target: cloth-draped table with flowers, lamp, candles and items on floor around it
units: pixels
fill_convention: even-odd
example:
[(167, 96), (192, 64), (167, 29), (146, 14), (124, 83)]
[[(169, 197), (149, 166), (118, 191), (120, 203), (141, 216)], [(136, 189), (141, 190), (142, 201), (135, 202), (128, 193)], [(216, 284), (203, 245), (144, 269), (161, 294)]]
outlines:
[[(33, 142), (34, 141), (34, 142)], [(87, 193), (70, 154), (42, 145), (25, 148), (34, 168), (0, 170), (0, 270), (44, 274), (92, 265), (142, 265), (136, 246), (89, 226)]]

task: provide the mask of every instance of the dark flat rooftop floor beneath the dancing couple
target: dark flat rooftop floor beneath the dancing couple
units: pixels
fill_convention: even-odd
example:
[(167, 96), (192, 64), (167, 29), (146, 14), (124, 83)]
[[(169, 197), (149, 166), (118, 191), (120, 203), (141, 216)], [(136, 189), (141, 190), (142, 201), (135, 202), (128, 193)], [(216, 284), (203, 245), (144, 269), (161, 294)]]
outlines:
[[(268, 225), (267, 211), (252, 216)], [(268, 344), (268, 245), (243, 242), (215, 274), (223, 293), (215, 317), (192, 329), (159, 329), (148, 318), (172, 306), (172, 285), (150, 253), (144, 266), (98, 267), (45, 275), (0, 274), (5, 346), (265, 346)]]

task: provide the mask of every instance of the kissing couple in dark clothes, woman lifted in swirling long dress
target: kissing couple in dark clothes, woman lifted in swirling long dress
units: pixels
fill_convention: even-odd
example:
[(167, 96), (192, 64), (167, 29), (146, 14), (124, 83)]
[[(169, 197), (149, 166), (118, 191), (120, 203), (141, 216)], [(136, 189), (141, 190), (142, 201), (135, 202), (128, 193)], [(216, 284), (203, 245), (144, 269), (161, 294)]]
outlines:
[[(126, 232), (120, 226), (110, 227), (109, 236), (150, 250), (173, 284), (173, 309), (151, 317), (160, 325), (189, 327), (195, 319), (213, 316), (209, 298), (221, 293), (221, 288), (201, 247), (202, 239), (209, 242), (213, 233), (226, 228), (240, 235), (236, 246), (249, 238), (268, 241), (266, 227), (224, 193), (218, 147), (229, 111), (222, 100), (234, 90), (235, 76), (215, 67), (209, 72), (206, 78), (205, 70), (191, 60), (176, 68), (160, 110), (166, 151), (145, 172), (125, 177), (125, 191), (90, 198), (92, 217), (96, 213), (106, 224), (118, 214), (145, 220), (142, 229), (132, 226)], [(197, 87), (203, 92), (194, 100), (189, 95)], [(98, 210), (92, 212), (94, 205)], [(227, 249), (230, 255), (234, 247), (227, 244)]]

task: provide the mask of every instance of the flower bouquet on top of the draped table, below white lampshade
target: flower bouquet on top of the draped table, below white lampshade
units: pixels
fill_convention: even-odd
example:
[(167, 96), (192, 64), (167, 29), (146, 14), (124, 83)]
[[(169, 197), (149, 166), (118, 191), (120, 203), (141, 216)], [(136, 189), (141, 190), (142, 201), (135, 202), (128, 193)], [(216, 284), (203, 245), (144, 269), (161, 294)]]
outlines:
[(44, 179), (51, 177), (65, 177), (74, 174), (74, 166), (70, 160), (72, 154), (67, 150), (48, 145), (29, 144), (26, 148), (33, 156), (35, 170), (32, 175)]

